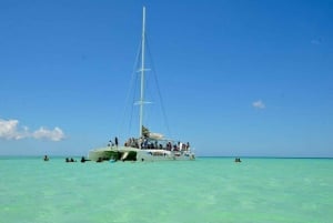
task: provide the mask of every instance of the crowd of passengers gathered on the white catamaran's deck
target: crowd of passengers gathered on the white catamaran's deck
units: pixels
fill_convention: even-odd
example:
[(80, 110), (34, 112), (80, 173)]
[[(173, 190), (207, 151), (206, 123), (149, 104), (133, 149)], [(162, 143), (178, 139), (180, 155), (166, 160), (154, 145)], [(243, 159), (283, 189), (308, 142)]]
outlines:
[[(139, 146), (140, 144), (140, 146)], [(134, 139), (130, 138), (125, 143), (124, 146), (131, 146), (131, 148), (141, 148), (141, 149), (160, 149), (160, 150), (169, 150), (169, 151), (186, 151), (190, 148), (190, 143), (182, 143), (178, 142), (176, 144), (172, 144), (170, 141), (167, 144), (161, 144), (157, 140), (151, 140), (148, 138), (141, 139)]]

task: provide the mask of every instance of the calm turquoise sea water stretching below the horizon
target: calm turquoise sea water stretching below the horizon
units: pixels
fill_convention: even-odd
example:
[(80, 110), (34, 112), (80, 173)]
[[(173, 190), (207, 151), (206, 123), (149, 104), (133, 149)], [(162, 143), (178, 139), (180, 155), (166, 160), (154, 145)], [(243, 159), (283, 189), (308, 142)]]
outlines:
[(242, 161), (0, 158), (0, 223), (333, 221), (333, 160)]

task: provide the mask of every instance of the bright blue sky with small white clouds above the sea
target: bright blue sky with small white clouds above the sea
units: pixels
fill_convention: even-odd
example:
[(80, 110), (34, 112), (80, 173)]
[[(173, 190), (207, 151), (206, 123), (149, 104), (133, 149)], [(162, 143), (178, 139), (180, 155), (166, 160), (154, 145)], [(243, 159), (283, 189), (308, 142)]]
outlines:
[(138, 132), (143, 6), (171, 136), (198, 155), (333, 156), (329, 0), (2, 0), (0, 155), (87, 155)]

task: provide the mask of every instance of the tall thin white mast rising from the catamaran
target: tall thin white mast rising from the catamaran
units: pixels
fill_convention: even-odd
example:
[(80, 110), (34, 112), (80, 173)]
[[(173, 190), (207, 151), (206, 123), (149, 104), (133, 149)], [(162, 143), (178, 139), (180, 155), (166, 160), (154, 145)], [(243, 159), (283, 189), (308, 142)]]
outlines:
[(142, 16), (142, 42), (141, 42), (141, 93), (140, 93), (140, 136), (142, 136), (142, 119), (143, 119), (143, 103), (144, 103), (144, 38), (145, 38), (145, 7), (143, 7)]

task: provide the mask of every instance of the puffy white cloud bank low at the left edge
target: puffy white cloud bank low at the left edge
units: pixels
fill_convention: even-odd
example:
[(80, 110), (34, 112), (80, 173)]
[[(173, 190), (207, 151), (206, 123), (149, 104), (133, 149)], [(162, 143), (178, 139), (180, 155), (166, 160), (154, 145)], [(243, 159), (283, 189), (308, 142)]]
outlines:
[(6, 140), (21, 140), (21, 139), (43, 139), (51, 141), (64, 140), (63, 131), (56, 126), (53, 130), (41, 126), (39, 130), (29, 131), (28, 126), (19, 126), (18, 120), (2, 120), (0, 119), (0, 139)]

